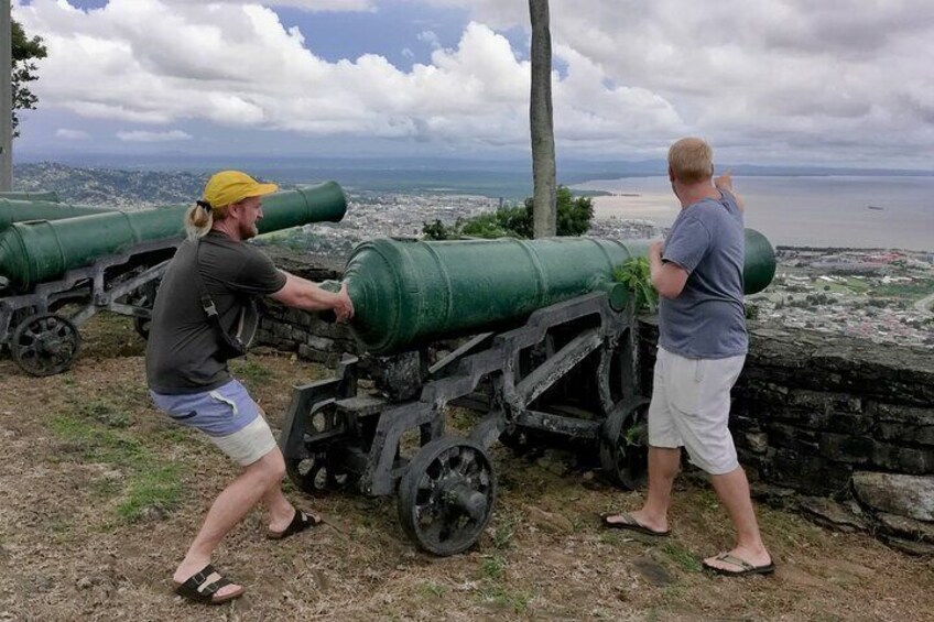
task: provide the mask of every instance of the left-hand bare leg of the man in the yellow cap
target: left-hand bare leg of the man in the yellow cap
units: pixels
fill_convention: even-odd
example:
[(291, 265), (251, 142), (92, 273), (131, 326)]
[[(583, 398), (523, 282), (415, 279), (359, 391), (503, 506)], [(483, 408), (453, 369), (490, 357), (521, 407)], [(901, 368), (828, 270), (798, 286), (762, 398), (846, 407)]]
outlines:
[[(285, 463), (279, 448), (245, 467), (243, 472), (214, 500), (198, 535), (172, 578), (182, 583), (207, 566), (221, 538), (252, 510), (271, 485), (279, 487), (284, 474)], [(216, 596), (224, 597), (239, 589), (240, 586), (231, 583), (218, 590)]]

